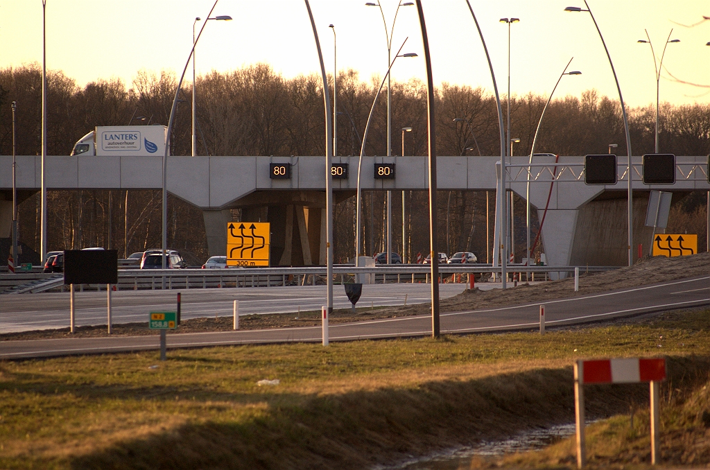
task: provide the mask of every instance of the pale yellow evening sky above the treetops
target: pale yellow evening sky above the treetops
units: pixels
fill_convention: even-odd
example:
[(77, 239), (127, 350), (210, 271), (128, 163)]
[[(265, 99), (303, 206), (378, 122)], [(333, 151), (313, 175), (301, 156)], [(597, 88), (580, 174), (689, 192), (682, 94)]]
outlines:
[[(374, 0), (376, 1), (376, 0)], [(570, 13), (566, 6), (584, 0), (470, 0), (493, 62), (501, 96), (508, 87), (508, 24), (500, 18), (520, 18), (510, 25), (510, 91), (549, 96), (571, 58), (555, 97), (579, 97), (586, 89), (618, 98), (603, 45), (587, 12)], [(398, 0), (380, 0), (387, 28)], [(587, 0), (611, 55), (625, 102), (655, 104), (657, 61), (667, 45), (660, 77), (660, 101), (672, 104), (710, 102), (710, 2), (707, 0)], [(62, 70), (79, 86), (118, 77), (128, 87), (139, 70), (182, 73), (192, 48), (195, 17), (203, 20), (214, 0), (46, 0), (46, 54), (49, 70)], [(383, 19), (365, 0), (310, 0), (323, 50), (325, 67), (334, 68), (337, 34), (338, 70), (354, 69), (362, 80), (383, 77), (387, 44)], [(492, 92), (491, 75), (479, 35), (465, 0), (422, 0), (430, 40), (435, 84), (484, 87)], [(0, 0), (0, 67), (42, 62), (42, 1)], [(320, 73), (315, 40), (303, 0), (219, 0), (212, 16), (233, 21), (208, 21), (196, 48), (197, 75), (235, 70), (267, 62), (290, 78)], [(197, 31), (204, 21), (197, 22)], [(692, 26), (699, 23), (696, 26)], [(425, 80), (420, 26), (415, 6), (398, 11), (392, 54), (398, 58), (392, 78), (398, 82)], [(704, 85), (704, 87), (683, 84)], [(185, 80), (190, 81), (192, 63)]]

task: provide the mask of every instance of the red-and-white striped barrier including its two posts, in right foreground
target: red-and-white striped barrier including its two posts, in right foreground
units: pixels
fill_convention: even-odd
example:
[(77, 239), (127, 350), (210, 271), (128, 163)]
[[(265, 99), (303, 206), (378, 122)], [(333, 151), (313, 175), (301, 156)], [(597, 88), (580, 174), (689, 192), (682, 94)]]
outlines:
[(595, 359), (574, 362), (574, 415), (577, 428), (577, 467), (586, 462), (584, 447), (584, 384), (586, 383), (650, 383), (651, 464), (659, 457), (660, 382), (666, 378), (663, 358)]

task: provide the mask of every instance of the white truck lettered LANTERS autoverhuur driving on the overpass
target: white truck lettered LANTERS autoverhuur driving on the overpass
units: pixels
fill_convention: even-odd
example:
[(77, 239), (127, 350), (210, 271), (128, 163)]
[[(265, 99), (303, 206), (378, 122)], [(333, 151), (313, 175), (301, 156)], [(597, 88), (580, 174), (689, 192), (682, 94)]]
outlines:
[(167, 136), (165, 126), (97, 126), (74, 144), (72, 155), (165, 155)]

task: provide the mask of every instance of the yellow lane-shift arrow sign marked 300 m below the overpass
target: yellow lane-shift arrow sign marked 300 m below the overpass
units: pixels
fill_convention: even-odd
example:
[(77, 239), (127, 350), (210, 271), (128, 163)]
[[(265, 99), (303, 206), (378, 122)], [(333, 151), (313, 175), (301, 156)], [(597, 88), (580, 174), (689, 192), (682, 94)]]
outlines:
[(227, 266), (269, 266), (271, 224), (229, 222), (226, 226)]

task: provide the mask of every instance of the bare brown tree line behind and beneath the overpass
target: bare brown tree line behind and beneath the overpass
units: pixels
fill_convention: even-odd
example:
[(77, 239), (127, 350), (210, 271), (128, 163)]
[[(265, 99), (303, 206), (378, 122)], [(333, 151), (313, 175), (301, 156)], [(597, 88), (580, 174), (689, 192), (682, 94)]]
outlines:
[[(72, 146), (95, 126), (168, 123), (178, 80), (173, 72), (141, 70), (130, 86), (118, 79), (97, 80), (84, 87), (61, 71), (48, 71), (48, 155), (68, 155)], [(329, 77), (332, 94), (332, 76)], [(363, 80), (354, 70), (338, 75), (338, 154), (359, 155), (361, 138), (381, 77)], [(230, 72), (210, 72), (198, 77), (197, 155), (324, 155), (322, 82), (318, 75), (286, 78), (271, 65), (258, 63)], [(10, 103), (17, 102), (17, 153), (41, 153), (42, 70), (33, 63), (0, 69), (0, 154), (12, 152)], [(386, 155), (385, 91), (376, 105), (366, 142), (366, 155)], [(173, 155), (190, 155), (192, 149), (192, 88), (183, 84), (173, 125)], [(528, 93), (510, 98), (511, 136), (520, 138), (514, 154), (530, 153), (537, 122), (547, 97)], [(427, 154), (426, 89), (420, 80), (393, 82), (391, 89), (393, 155)], [(506, 112), (503, 106), (503, 113)], [(436, 89), (437, 155), (499, 155), (500, 134), (493, 94), (483, 87), (443, 83)], [(507, 116), (503, 116), (506, 119)], [(654, 151), (655, 106), (628, 109), (633, 153)], [(660, 108), (660, 149), (676, 155), (710, 153), (710, 105)], [(404, 134), (403, 127), (412, 131)], [(626, 155), (621, 106), (615, 99), (586, 90), (579, 97), (553, 99), (545, 112), (535, 143), (536, 153), (585, 155), (606, 153), (610, 143)], [(442, 191), (439, 195), (439, 251), (474, 251), (486, 261), (486, 236), (492, 230), (494, 195), (489, 196), (486, 226), (486, 193)], [(401, 252), (404, 223), (405, 259), (429, 252), (427, 195), (406, 192), (407, 214), (401, 214), (401, 192), (393, 197), (393, 249)], [(155, 191), (50, 191), (48, 248), (108, 246), (119, 253), (143, 251), (160, 245), (160, 192)], [(366, 253), (385, 246), (383, 192), (364, 195)], [(688, 214), (699, 211), (701, 197), (684, 204)], [(173, 248), (207, 258), (204, 222), (199, 209), (170, 197), (168, 243)], [(20, 206), (21, 241), (39, 246), (38, 195)], [(399, 208), (399, 209), (398, 209)], [(520, 212), (518, 214), (518, 212)], [(240, 217), (240, 212), (234, 212)], [(516, 235), (525, 237), (524, 204), (516, 204)], [(354, 198), (335, 210), (337, 261), (351, 256), (354, 246)], [(447, 222), (444, 222), (447, 221)], [(533, 234), (537, 219), (533, 221)], [(492, 234), (491, 241), (492, 243)], [(489, 246), (490, 246), (490, 243)], [(517, 253), (524, 248), (516, 247)], [(197, 262), (197, 261), (195, 261)]]

